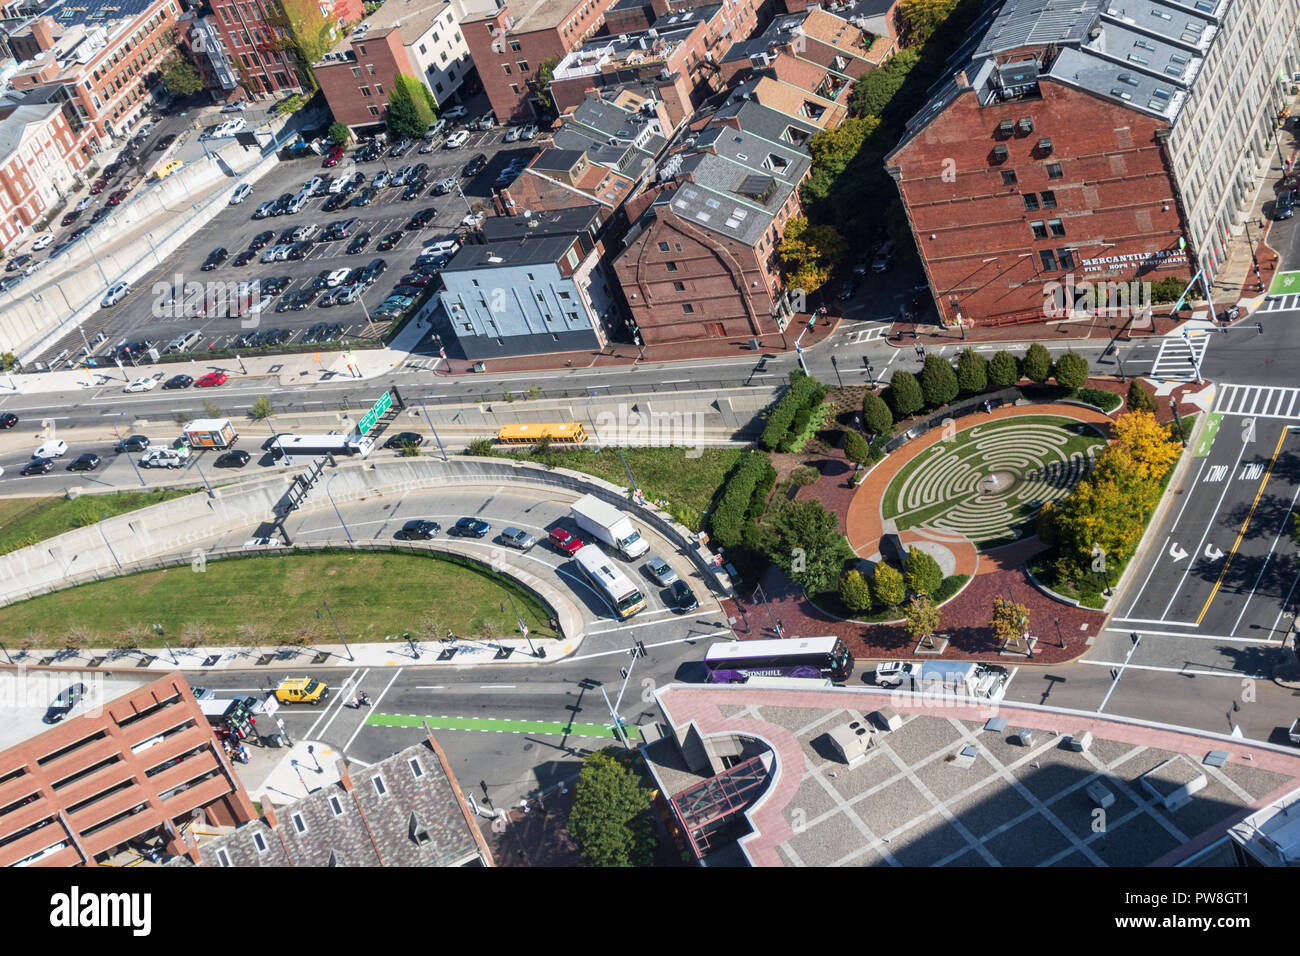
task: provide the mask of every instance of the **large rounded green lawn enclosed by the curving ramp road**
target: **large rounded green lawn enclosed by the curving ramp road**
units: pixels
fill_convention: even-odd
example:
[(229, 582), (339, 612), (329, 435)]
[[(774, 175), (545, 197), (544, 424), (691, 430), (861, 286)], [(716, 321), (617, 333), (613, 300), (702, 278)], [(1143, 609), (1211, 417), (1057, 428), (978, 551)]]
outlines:
[[(530, 636), (555, 637), (545, 607), (510, 579), (445, 558), (350, 551), (228, 558), (203, 572), (182, 564), (95, 581), (0, 609), (0, 632), (32, 646), (64, 646), (74, 630), (92, 646), (117, 646), (124, 635), (156, 646), (150, 628), (159, 623), (173, 643), (332, 644), (334, 626), (316, 617), (328, 601), (348, 641), (403, 631), (430, 640), (434, 626), (438, 637), (447, 628), (458, 637), (517, 637), (507, 589)], [(490, 635), (485, 624), (499, 630)]]

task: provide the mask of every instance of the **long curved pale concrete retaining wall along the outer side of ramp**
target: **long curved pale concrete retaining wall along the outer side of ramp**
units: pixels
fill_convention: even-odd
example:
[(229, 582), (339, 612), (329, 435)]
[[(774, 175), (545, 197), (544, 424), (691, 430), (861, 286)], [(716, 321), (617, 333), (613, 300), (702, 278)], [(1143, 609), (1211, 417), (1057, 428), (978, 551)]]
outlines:
[[(233, 528), (270, 520), (273, 506), (289, 489), (292, 475), (302, 468), (229, 485), (152, 505), (101, 524), (78, 528), (12, 554), (0, 555), (0, 606), (60, 588), (98, 580), (105, 572), (146, 562), (161, 555), (202, 548), (204, 541)], [(722, 568), (712, 566), (712, 555), (698, 544), (694, 535), (653, 505), (637, 505), (628, 490), (601, 479), (564, 468), (547, 470), (528, 462), (502, 462), (486, 458), (398, 458), (389, 462), (347, 462), (337, 475), (330, 493), (335, 502), (402, 496), (439, 485), (512, 485), (528, 484), (560, 489), (573, 496), (594, 494), (663, 535), (705, 571), (718, 593), (731, 596), (732, 584)], [(303, 502), (302, 510), (328, 509), (329, 498), (317, 484)]]

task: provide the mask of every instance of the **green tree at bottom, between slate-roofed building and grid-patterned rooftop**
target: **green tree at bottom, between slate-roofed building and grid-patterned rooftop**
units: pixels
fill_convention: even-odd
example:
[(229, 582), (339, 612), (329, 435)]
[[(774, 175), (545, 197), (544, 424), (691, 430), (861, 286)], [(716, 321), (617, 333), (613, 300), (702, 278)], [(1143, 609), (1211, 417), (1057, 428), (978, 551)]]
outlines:
[(650, 791), (614, 748), (582, 761), (568, 832), (590, 866), (653, 866)]

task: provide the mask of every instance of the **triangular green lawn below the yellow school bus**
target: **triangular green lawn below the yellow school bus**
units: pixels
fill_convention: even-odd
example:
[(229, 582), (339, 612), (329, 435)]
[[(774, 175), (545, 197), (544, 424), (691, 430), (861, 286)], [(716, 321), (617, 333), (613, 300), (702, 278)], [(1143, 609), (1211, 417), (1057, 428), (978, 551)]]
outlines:
[[(667, 509), (692, 531), (699, 531), (699, 512), (706, 511), (718, 493), (727, 472), (732, 470), (744, 449), (684, 447), (628, 447), (623, 449), (628, 468), (647, 501), (663, 498)], [(523, 462), (538, 462), (552, 468), (568, 468), (585, 475), (628, 486), (628, 472), (623, 467), (618, 449), (601, 451), (592, 449), (551, 447), (541, 455), (516, 451), (510, 457)]]

